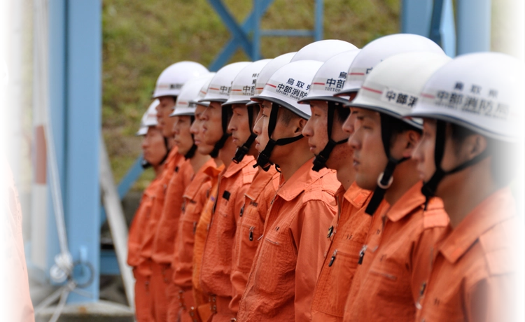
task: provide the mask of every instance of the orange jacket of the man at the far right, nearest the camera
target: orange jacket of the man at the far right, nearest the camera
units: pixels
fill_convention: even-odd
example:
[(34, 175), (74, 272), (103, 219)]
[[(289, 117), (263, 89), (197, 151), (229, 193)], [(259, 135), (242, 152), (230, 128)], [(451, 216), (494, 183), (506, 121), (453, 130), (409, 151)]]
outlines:
[(416, 321), (521, 321), (522, 238), (516, 202), (502, 188), (436, 246)]

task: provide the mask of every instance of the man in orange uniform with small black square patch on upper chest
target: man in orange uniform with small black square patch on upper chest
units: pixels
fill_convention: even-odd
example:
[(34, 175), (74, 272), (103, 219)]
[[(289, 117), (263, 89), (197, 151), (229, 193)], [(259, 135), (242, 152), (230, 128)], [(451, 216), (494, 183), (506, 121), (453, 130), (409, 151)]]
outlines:
[(250, 62), (237, 62), (219, 69), (211, 80), (207, 94), (200, 102), (209, 102), (202, 113), (202, 139), (213, 144), (210, 155), (218, 156), (225, 165), (219, 174), (216, 202), (211, 213), (207, 239), (204, 243), (200, 283), (209, 296), (211, 321), (228, 321), (235, 318), (229, 308), (232, 300), (232, 249), (237, 221), (244, 204), (244, 193), (255, 175), (255, 163), (251, 155), (233, 162), (237, 146), (233, 143), (228, 123), (232, 116), (230, 106), (222, 106), (228, 100), (232, 81)]

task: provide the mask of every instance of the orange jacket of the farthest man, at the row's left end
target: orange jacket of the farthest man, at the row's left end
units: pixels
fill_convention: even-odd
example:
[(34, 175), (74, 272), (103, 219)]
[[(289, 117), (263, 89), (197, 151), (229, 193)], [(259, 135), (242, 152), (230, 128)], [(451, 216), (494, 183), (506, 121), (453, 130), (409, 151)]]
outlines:
[(130, 233), (127, 237), (127, 265), (138, 267), (144, 258), (140, 256), (142, 239), (144, 238), (144, 228), (148, 225), (151, 214), (151, 206), (155, 199), (155, 191), (158, 189), (160, 180), (158, 178), (151, 181), (144, 193), (142, 193), (139, 208), (135, 212), (133, 221), (130, 225)]

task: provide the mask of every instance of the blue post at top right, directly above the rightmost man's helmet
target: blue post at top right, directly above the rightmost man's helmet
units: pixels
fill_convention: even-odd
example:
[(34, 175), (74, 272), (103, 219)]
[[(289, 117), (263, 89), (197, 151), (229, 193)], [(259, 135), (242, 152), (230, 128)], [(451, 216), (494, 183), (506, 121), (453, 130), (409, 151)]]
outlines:
[(491, 0), (458, 0), (458, 55), (491, 49)]

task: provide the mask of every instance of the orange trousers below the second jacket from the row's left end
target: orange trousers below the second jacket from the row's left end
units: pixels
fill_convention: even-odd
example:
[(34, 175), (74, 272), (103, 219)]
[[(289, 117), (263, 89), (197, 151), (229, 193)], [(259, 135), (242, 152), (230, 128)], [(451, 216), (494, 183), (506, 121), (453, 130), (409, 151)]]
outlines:
[(168, 321), (167, 313), (169, 300), (166, 296), (166, 288), (169, 286), (173, 270), (169, 265), (151, 262), (151, 302), (153, 305), (153, 316), (155, 322)]

